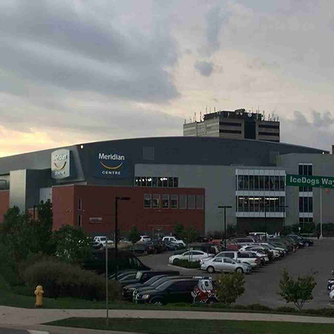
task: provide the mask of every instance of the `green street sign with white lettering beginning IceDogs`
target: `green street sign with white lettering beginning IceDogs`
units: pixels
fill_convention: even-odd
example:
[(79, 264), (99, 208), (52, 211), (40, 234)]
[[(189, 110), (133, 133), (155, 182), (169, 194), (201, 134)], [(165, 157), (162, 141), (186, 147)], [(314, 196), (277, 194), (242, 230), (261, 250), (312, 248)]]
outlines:
[(287, 186), (334, 188), (334, 176), (286, 174)]

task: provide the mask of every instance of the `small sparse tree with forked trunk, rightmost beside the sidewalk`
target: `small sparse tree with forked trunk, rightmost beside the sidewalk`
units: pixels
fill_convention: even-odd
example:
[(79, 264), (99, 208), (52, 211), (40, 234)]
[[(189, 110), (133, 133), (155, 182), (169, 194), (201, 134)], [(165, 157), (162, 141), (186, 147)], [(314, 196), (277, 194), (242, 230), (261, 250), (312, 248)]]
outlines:
[(281, 274), (280, 289), (278, 294), (283, 297), (287, 303), (294, 303), (300, 311), (305, 303), (313, 299), (312, 291), (317, 285), (314, 275), (316, 272), (306, 275), (304, 277), (299, 276), (297, 280), (294, 280), (289, 273), (284, 270)]

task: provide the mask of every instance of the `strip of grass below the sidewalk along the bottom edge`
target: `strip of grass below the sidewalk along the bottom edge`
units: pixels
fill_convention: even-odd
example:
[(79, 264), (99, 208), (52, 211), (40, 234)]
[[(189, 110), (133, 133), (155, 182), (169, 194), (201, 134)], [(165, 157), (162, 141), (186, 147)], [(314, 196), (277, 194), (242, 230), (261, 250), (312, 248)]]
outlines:
[(47, 325), (159, 334), (332, 334), (334, 324), (273, 321), (187, 320), (110, 318), (68, 318)]

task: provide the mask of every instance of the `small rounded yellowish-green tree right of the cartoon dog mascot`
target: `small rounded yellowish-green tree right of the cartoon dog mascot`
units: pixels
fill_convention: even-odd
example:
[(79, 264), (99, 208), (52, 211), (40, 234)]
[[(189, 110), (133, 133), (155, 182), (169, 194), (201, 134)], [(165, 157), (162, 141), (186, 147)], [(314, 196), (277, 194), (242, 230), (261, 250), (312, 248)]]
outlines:
[(245, 280), (242, 273), (219, 275), (216, 283), (217, 295), (220, 302), (230, 305), (244, 292)]

